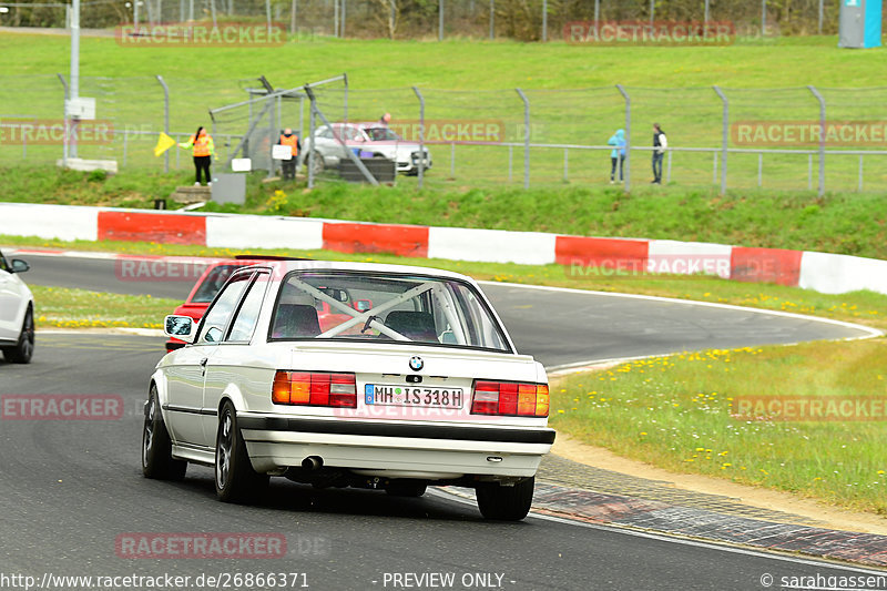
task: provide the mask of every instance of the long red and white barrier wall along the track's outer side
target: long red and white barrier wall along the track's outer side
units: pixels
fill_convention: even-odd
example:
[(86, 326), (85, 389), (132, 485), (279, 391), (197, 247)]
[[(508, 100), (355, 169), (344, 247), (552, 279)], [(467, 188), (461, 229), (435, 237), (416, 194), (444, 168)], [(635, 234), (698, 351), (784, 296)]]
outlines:
[(562, 236), (213, 213), (152, 212), (0, 203), (0, 234), (86, 241), (141, 241), (227, 248), (298, 248), (491, 263), (547, 265), (568, 273), (706, 273), (827, 294), (887, 294), (887, 261), (696, 242)]

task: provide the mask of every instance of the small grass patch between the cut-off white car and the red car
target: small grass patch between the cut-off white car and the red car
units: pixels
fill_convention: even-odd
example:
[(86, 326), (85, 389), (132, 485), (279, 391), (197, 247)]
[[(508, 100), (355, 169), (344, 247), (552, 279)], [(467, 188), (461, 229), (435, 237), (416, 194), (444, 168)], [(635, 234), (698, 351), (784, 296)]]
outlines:
[(181, 304), (164, 297), (106, 294), (31, 285), (38, 328), (163, 328), (163, 317)]

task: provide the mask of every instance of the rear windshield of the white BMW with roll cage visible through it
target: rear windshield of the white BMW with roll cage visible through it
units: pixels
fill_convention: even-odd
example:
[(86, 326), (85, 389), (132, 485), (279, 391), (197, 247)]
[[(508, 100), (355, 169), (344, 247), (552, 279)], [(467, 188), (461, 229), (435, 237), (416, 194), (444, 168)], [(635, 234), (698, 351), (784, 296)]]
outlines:
[(512, 353), (473, 286), (441, 277), (295, 272), (282, 283), (272, 340), (421, 343)]

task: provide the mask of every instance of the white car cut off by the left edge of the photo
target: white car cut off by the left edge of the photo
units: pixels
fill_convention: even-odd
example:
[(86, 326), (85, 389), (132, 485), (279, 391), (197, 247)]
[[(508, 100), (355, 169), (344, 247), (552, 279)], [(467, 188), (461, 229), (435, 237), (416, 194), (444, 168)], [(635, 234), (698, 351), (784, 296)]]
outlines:
[(30, 363), (34, 351), (34, 296), (18, 276), (29, 268), (0, 253), (0, 350), (13, 364)]

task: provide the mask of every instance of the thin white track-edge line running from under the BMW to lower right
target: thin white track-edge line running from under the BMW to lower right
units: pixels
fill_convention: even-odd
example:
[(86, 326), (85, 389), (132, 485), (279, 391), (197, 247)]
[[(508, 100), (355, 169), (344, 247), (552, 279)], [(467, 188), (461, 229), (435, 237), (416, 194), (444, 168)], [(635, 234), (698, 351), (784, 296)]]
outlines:
[[(437, 497), (439, 499), (442, 499), (442, 500), (451, 500), (451, 501), (456, 501), (456, 502), (459, 502), (459, 503), (462, 503), (462, 505), (467, 505), (467, 506), (470, 506), (470, 507), (477, 507), (477, 503), (475, 503), (470, 499), (467, 499), (467, 498), (461, 497), (461, 496), (459, 496), (457, 493), (453, 493), (453, 492), (449, 492), (447, 490), (441, 490), (439, 488), (429, 488), (428, 489), (428, 493), (430, 493), (431, 496)], [(620, 526), (620, 524), (605, 526), (605, 524), (599, 524), (599, 523), (589, 523), (587, 521), (573, 520), (573, 519), (565, 518), (565, 517), (547, 516), (547, 514), (542, 514), (542, 513), (536, 513), (536, 512), (532, 512), (532, 511), (530, 512), (529, 516), (527, 516), (527, 518), (528, 519), (540, 519), (540, 520), (544, 520), (544, 521), (553, 521), (555, 523), (562, 523), (562, 524), (565, 524), (565, 526), (574, 526), (574, 527), (588, 528), (588, 529), (593, 529), (593, 530), (599, 530), (599, 531), (606, 531), (609, 533), (623, 533), (625, 536), (634, 536), (634, 537), (638, 537), (638, 538), (645, 538), (645, 539), (650, 539), (650, 540), (657, 540), (657, 541), (670, 542), (670, 543), (680, 543), (680, 544), (683, 544), (683, 546), (693, 546), (693, 547), (696, 547), (696, 548), (705, 548), (707, 550), (717, 550), (717, 551), (722, 551), (722, 552), (731, 552), (731, 553), (734, 553), (734, 554), (745, 554), (745, 556), (752, 556), (752, 557), (757, 557), (757, 558), (766, 558), (766, 559), (769, 559), (769, 560), (779, 560), (779, 561), (783, 561), (783, 562), (794, 562), (794, 563), (797, 563), (797, 564), (806, 564), (806, 565), (812, 565), (812, 567), (820, 567), (820, 568), (828, 568), (828, 569), (838, 569), (838, 570), (853, 571), (853, 572), (861, 572), (861, 573), (866, 573), (866, 574), (874, 574), (874, 575), (881, 575), (881, 577), (885, 573), (885, 571), (883, 571), (883, 570), (875, 570), (875, 569), (870, 569), (870, 568), (861, 567), (861, 565), (854, 567), (854, 565), (850, 565), (850, 564), (842, 564), (842, 563), (838, 563), (838, 562), (830, 562), (828, 560), (817, 560), (817, 559), (813, 559), (813, 558), (810, 558), (810, 559), (797, 558), (797, 557), (781, 554), (781, 553), (777, 553), (776, 551), (768, 552), (766, 550), (754, 550), (754, 549), (750, 549), (750, 548), (741, 548), (741, 547), (737, 547), (737, 546), (730, 544), (728, 542), (706, 542), (706, 541), (693, 540), (693, 539), (689, 539), (689, 538), (681, 538), (681, 537), (677, 537), (677, 536), (669, 536), (666, 533), (650, 533), (650, 532), (646, 532), (646, 531), (640, 531), (640, 530), (632, 529), (632, 528), (626, 527), (626, 526)]]

